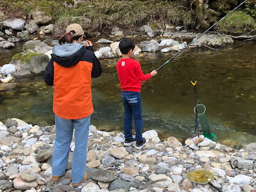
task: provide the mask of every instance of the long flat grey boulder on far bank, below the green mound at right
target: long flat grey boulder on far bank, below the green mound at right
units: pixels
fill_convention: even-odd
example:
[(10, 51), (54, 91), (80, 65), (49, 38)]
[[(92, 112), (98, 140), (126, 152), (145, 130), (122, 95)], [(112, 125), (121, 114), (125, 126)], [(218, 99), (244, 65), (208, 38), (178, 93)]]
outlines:
[(203, 35), (195, 43), (193, 43), (192, 46), (201, 47), (203, 45), (207, 45), (207, 46), (220, 47), (220, 46), (227, 46), (233, 43), (234, 43), (233, 39), (227, 35), (214, 34), (214, 35)]

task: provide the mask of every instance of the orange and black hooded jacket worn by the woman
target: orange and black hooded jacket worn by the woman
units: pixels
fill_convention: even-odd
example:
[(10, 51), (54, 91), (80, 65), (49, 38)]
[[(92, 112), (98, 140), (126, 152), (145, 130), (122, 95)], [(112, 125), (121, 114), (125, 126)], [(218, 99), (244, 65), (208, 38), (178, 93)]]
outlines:
[[(70, 50), (66, 52), (67, 49)], [(65, 119), (81, 119), (91, 115), (91, 77), (99, 77), (101, 72), (92, 46), (87, 49), (79, 44), (54, 47), (52, 59), (44, 73), (45, 83), (54, 86), (54, 114)]]

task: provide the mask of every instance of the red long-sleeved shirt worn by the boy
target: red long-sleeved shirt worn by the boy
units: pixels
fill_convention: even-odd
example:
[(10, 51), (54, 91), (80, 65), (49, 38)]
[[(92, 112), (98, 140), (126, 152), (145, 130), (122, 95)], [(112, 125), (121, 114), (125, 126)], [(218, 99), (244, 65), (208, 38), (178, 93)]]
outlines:
[(135, 59), (121, 59), (116, 64), (122, 91), (140, 92), (141, 81), (147, 81), (151, 74), (143, 75), (140, 63)]

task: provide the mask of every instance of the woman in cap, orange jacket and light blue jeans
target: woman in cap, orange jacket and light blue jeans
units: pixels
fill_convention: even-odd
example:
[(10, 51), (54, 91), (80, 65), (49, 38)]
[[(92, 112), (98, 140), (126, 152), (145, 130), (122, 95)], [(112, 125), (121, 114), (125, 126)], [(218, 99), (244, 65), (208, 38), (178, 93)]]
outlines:
[(87, 141), (90, 117), (93, 113), (91, 77), (101, 75), (99, 60), (93, 53), (92, 43), (82, 45), (83, 28), (69, 25), (60, 36), (59, 44), (44, 73), (47, 85), (54, 86), (53, 112), (55, 114), (56, 139), (52, 163), (52, 180), (65, 175), (69, 147), (75, 127), (75, 150), (72, 164), (72, 184), (78, 187), (86, 181)]

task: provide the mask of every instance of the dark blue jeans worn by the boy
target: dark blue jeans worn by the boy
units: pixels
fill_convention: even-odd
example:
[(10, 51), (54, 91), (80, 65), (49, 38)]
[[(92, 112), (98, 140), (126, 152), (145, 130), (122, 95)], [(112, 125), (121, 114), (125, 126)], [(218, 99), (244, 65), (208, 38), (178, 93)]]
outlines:
[(142, 141), (142, 108), (140, 92), (123, 91), (124, 103), (124, 137), (132, 139), (132, 117), (135, 123), (136, 141)]

